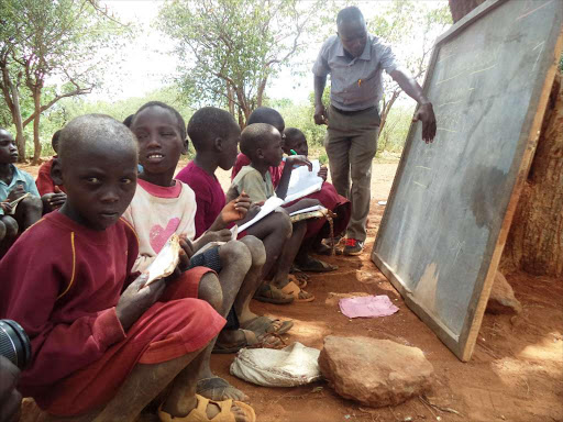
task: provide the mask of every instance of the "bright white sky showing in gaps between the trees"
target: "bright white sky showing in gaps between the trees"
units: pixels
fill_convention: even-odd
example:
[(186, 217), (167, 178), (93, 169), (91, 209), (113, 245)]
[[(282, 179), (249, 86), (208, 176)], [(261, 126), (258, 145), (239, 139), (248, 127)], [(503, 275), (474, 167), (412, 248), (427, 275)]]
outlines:
[[(376, 3), (385, 5), (388, 1), (358, 2), (367, 21), (378, 9), (373, 7)], [(439, 4), (440, 2), (430, 3)], [(88, 100), (115, 101), (130, 97), (143, 97), (166, 86), (175, 74), (177, 58), (172, 53), (174, 41), (158, 31), (156, 18), (163, 1), (103, 0), (101, 4), (107, 7), (108, 11), (121, 22), (133, 23), (140, 31), (139, 35), (129, 43), (126, 51), (121, 53), (123, 63), (120, 71), (108, 73), (104, 77), (103, 89), (89, 95)], [(305, 65), (305, 70), (312, 67), (320, 46), (320, 43), (308, 45), (305, 57), (310, 64)], [(398, 46), (397, 49), (408, 54), (408, 51), (413, 47)], [(266, 93), (273, 99), (290, 98), (294, 102), (305, 102), (308, 101), (312, 89), (311, 74), (306, 71), (303, 76), (295, 76), (288, 69), (284, 69), (277, 78), (271, 80)]]

